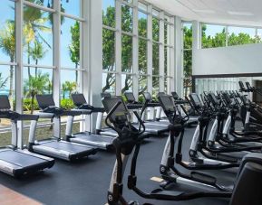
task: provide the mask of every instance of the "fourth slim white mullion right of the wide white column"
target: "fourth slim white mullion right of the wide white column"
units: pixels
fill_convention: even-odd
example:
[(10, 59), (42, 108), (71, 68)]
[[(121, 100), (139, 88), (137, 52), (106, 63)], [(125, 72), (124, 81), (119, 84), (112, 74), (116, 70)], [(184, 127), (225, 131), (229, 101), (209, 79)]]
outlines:
[[(160, 12), (160, 19), (164, 18), (164, 12)], [(165, 42), (165, 23), (163, 21), (160, 21), (160, 45), (159, 45), (159, 60), (160, 60), (160, 92), (163, 92), (164, 87), (164, 70), (165, 70), (165, 48), (164, 48), (164, 42)]]

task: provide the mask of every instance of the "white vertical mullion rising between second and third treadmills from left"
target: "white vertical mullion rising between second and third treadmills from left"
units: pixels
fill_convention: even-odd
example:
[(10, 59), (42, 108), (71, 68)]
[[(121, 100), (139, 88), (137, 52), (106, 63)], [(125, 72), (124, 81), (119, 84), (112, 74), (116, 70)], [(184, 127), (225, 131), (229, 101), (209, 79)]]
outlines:
[(60, 106), (60, 69), (61, 69), (61, 5), (60, 1), (53, 1), (53, 99)]

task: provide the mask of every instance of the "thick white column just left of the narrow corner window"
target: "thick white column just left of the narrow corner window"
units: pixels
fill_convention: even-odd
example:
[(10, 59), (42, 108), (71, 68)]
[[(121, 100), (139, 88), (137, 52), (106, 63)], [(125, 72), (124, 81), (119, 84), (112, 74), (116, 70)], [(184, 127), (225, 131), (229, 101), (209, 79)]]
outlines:
[(175, 90), (182, 95), (182, 75), (183, 75), (183, 64), (182, 64), (182, 31), (181, 31), (181, 18), (175, 17)]

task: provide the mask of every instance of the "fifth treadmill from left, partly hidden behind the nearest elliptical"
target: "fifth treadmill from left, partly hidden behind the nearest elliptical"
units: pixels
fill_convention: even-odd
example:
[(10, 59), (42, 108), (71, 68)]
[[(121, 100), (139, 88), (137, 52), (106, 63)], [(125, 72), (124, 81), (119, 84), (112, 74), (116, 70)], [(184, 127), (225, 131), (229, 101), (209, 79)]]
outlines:
[[(135, 109), (141, 109), (143, 107), (143, 104), (139, 103), (136, 101), (136, 98), (134, 97), (132, 92), (125, 92), (124, 93), (125, 98), (127, 98), (128, 104), (127, 107), (130, 110), (135, 110)], [(150, 107), (150, 104), (147, 105), (147, 107)], [(141, 114), (142, 115), (142, 114)], [(135, 127), (140, 126), (138, 123), (137, 124), (132, 124)], [(152, 124), (152, 122), (144, 122), (145, 126), (145, 131), (149, 133), (150, 135), (163, 135), (169, 131), (168, 125), (161, 125), (160, 123), (158, 124)]]

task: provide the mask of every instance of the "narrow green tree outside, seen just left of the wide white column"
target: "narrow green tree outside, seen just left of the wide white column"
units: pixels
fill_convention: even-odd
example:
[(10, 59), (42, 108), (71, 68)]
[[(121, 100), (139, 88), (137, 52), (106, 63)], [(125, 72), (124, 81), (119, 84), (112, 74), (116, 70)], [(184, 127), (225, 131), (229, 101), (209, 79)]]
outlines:
[[(75, 22), (70, 28), (71, 44), (69, 45), (70, 58), (77, 69), (80, 61), (80, 28), (79, 22)], [(75, 71), (75, 82), (78, 82), (78, 71)]]

